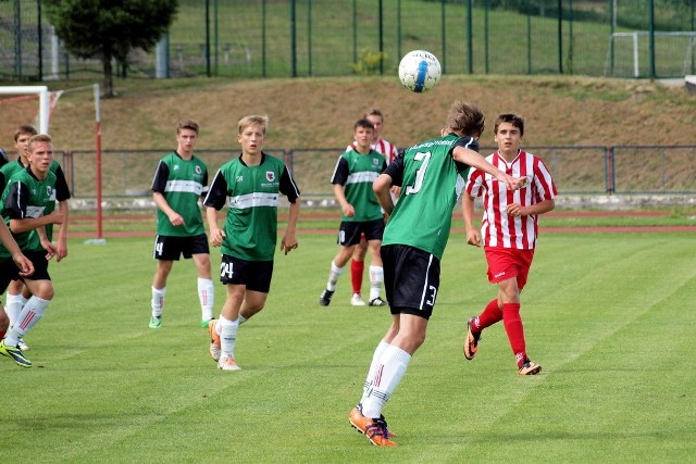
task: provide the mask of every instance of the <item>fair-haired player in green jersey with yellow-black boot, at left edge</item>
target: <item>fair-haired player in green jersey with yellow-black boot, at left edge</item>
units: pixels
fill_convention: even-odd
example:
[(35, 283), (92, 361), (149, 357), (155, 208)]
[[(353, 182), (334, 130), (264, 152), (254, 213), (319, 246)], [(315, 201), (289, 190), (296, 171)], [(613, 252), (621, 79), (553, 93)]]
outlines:
[[(24, 277), (33, 297), (27, 300), (16, 323), (0, 341), (0, 353), (12, 358), (22, 367), (32, 367), (32, 362), (17, 348), (17, 343), (39, 322), (53, 299), (48, 260), (57, 253), (57, 249), (48, 240), (44, 226), (62, 224), (63, 213), (53, 211), (44, 215), (47, 204), (54, 201), (52, 196), (55, 175), (50, 172), (52, 161), (51, 137), (44, 134), (32, 137), (28, 145), (29, 165), (10, 178), (2, 193), (2, 216), (5, 222), (9, 221), (14, 239), (34, 265), (34, 274)], [(32, 249), (29, 238), (34, 229), (47, 251)]]

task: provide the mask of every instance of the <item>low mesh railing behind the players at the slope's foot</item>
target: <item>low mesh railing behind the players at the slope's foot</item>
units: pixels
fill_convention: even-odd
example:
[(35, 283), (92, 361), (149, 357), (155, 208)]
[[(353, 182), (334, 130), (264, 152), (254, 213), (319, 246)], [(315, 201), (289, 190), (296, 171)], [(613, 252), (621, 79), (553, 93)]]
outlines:
[[(494, 147), (482, 147), (490, 153)], [(693, 164), (696, 146), (678, 147), (525, 147), (547, 164), (562, 195), (696, 193)], [(269, 149), (285, 161), (304, 198), (333, 198), (330, 184), (340, 148)], [(158, 161), (167, 150), (105, 150), (102, 153), (103, 197), (149, 197)], [(208, 165), (209, 181), (238, 152), (198, 150)], [(73, 196), (96, 197), (96, 155), (88, 151), (59, 152)]]

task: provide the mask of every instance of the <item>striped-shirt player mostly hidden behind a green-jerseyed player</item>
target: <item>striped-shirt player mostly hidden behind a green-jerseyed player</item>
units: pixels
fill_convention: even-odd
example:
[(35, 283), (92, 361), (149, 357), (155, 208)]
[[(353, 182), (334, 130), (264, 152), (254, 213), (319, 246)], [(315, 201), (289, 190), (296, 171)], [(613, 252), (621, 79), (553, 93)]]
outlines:
[[(382, 127), (384, 126), (384, 116), (382, 114), (382, 111), (380, 111), (380, 109), (377, 108), (373, 108), (368, 113), (365, 113), (363, 117), (370, 121), (374, 126), (374, 139), (372, 140), (371, 148), (377, 153), (382, 153), (384, 158), (386, 158), (387, 164), (390, 164), (398, 155), (398, 151), (393, 143), (380, 137)], [(346, 147), (346, 151), (355, 149), (355, 141)], [(398, 187), (395, 187), (394, 189), (395, 191), (393, 191), (393, 193), (396, 196), (396, 198), (398, 198)], [(364, 273), (365, 268), (364, 261), (366, 253), (368, 242), (362, 239), (360, 240), (360, 243), (356, 246), (352, 254), (352, 260), (350, 262), (350, 281), (352, 283), (352, 298), (350, 299), (350, 304), (352, 304), (353, 306), (363, 306), (365, 304), (365, 302), (362, 300), (361, 291), (362, 274)]]

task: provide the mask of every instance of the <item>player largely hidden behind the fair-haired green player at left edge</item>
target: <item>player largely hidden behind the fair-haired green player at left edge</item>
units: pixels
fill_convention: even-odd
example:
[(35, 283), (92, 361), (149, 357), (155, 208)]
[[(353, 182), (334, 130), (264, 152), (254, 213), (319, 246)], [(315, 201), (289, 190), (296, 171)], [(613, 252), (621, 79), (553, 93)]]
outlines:
[[(25, 170), (29, 164), (27, 159), (27, 145), (29, 139), (37, 134), (38, 131), (36, 128), (30, 125), (22, 125), (15, 129), (14, 148), (17, 152), (17, 156), (16, 160), (11, 161), (0, 168), (0, 186), (2, 186), (0, 191), (4, 190), (4, 184), (7, 184), (7, 180), (9, 180), (15, 173)], [(63, 174), (63, 170), (58, 161), (53, 160), (50, 170), (55, 175), (55, 189), (53, 190), (54, 198), (46, 205), (44, 215), (48, 215), (55, 209), (55, 201), (58, 200), (59, 210), (63, 213), (63, 224), (61, 224), (58, 241), (55, 243), (55, 261), (60, 262), (63, 258), (67, 256), (67, 216), (70, 211), (67, 200), (70, 199), (71, 193), (70, 188), (67, 187), (67, 181), (65, 180), (65, 175)], [(47, 224), (45, 229), (46, 236), (50, 241), (52, 241), (53, 225)], [(44, 250), (36, 230), (32, 231), (29, 241), (29, 249), (36, 251)], [(12, 280), (10, 283), (8, 287), (7, 312), (11, 324), (16, 321), (22, 308), (29, 297), (32, 297), (32, 293), (21, 279)], [(27, 351), (29, 349), (24, 339), (20, 340), (18, 346), (22, 351)]]

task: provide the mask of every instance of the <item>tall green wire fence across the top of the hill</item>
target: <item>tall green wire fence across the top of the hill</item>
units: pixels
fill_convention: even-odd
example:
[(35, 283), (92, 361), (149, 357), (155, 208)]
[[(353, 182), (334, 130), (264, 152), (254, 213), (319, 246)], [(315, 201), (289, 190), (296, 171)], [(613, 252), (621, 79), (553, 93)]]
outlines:
[[(0, 0), (0, 78), (94, 78), (41, 13)], [(391, 74), (413, 49), (450, 74), (695, 74), (696, 0), (181, 0), (156, 51), (122, 77)], [(159, 59), (159, 60), (158, 60)], [(165, 63), (158, 68), (157, 63)]]

